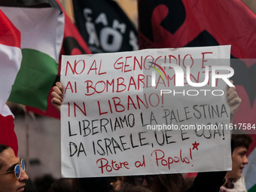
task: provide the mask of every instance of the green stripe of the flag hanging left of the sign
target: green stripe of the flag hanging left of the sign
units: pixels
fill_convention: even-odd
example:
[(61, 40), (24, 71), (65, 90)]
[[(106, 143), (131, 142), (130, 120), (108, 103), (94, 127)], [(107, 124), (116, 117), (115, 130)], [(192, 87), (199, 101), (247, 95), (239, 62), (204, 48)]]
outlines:
[(46, 110), (58, 64), (55, 59), (38, 50), (22, 49), (22, 54), (20, 71), (8, 101)]

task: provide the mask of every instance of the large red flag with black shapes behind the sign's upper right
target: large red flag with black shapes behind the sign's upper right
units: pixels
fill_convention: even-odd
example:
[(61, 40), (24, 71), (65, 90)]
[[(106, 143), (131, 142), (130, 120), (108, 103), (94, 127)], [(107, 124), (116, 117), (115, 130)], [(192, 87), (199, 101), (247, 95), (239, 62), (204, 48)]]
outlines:
[(231, 44), (231, 79), (242, 99), (233, 123), (256, 126), (255, 23), (240, 0), (139, 0), (139, 47)]

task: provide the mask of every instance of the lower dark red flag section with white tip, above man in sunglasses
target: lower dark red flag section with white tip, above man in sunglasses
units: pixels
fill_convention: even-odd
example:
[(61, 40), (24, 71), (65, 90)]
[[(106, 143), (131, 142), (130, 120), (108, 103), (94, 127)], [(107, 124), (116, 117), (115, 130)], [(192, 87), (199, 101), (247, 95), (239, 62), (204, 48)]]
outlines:
[(18, 140), (14, 132), (14, 114), (11, 113), (8, 105), (5, 105), (2, 114), (0, 114), (0, 143), (8, 145), (18, 154)]

